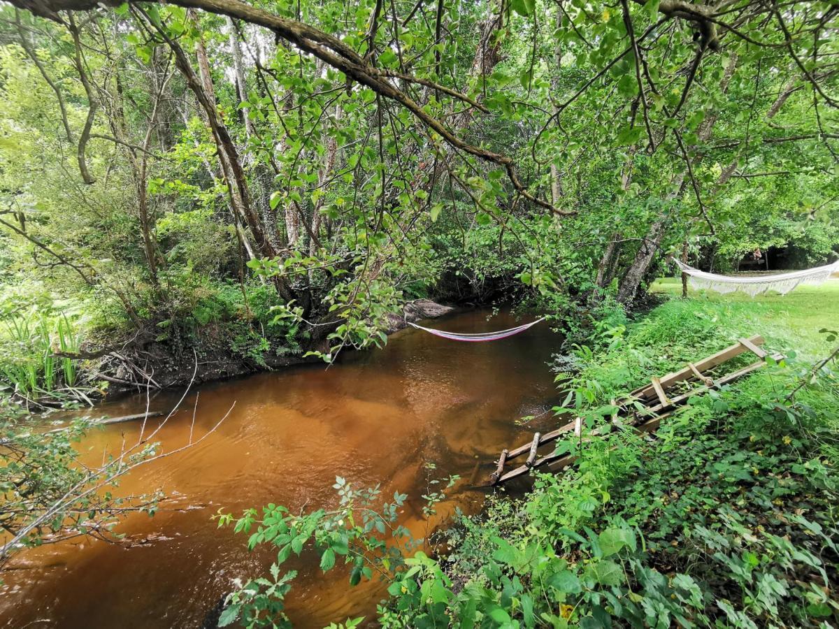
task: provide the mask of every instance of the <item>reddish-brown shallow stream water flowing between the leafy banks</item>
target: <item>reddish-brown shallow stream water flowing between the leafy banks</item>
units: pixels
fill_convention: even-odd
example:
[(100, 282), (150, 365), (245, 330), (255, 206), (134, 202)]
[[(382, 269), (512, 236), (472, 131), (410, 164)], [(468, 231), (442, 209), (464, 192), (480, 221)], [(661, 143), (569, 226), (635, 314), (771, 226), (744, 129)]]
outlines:
[[(519, 325), (502, 312), (451, 314), (427, 324), (457, 332)], [(235, 513), (275, 502), (292, 511), (337, 503), (332, 485), (381, 484), (383, 500), (409, 494), (401, 522), (424, 537), (456, 507), (477, 512), (492, 460), (552, 425), (551, 413), (528, 426), (517, 419), (557, 403), (546, 366), (560, 336), (539, 324), (505, 340), (463, 343), (409, 328), (382, 350), (345, 354), (339, 364), (296, 366), (195, 387), (159, 432), (163, 450), (189, 439), (195, 393), (195, 435), (229, 417), (201, 444), (154, 461), (123, 478), (120, 491), (163, 489), (172, 500), (154, 517), (132, 514), (119, 525), (123, 544), (79, 539), (18, 555), (0, 585), (0, 625), (13, 627), (201, 627), (232, 580), (265, 574), (273, 552), (249, 553), (247, 537), (217, 528), (220, 508)], [(172, 408), (181, 392), (161, 392), (151, 408)], [(138, 413), (144, 397), (97, 409)], [(158, 420), (159, 421), (159, 420)], [(91, 457), (137, 439), (138, 423), (96, 430), (81, 445)], [(426, 462), (432, 477), (457, 474), (456, 486), (423, 517)], [(347, 570), (323, 574), (314, 553), (289, 561), (300, 574), (287, 596), (294, 626), (320, 627), (347, 616), (375, 618), (385, 585), (348, 585)]]

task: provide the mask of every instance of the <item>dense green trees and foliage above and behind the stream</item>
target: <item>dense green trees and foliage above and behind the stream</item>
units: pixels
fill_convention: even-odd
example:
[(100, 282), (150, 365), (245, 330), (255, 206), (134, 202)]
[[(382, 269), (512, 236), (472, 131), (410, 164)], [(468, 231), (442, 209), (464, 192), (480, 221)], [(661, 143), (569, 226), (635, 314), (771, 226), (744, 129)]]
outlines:
[[(13, 5), (3, 379), (29, 398), (182, 381), (193, 348), (331, 360), (417, 296), (630, 304), (668, 253), (839, 240), (830, 3)], [(44, 305), (82, 313), (71, 382), (8, 339)]]

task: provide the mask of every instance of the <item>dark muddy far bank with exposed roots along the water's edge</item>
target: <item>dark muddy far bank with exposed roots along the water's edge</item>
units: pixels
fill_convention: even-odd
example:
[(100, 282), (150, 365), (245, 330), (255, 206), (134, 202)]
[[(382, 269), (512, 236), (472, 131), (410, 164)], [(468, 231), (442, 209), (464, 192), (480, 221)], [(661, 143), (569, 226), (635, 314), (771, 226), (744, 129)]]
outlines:
[[(408, 321), (433, 319), (453, 310), (451, 306), (430, 299), (416, 299), (405, 304), (401, 316), (391, 314), (389, 325), (384, 331), (391, 335), (402, 330)], [(213, 382), (248, 373), (319, 362), (317, 356), (305, 356), (305, 353), (327, 349), (325, 339), (312, 340), (294, 352), (285, 347), (271, 347), (260, 356), (245, 357), (231, 351), (224, 330), (207, 326), (189, 348), (150, 340), (98, 357), (95, 363), (88, 365), (88, 372), (91, 374), (91, 382), (107, 382), (107, 398), (114, 398), (128, 392), (145, 390), (146, 387), (182, 387), (190, 382)]]

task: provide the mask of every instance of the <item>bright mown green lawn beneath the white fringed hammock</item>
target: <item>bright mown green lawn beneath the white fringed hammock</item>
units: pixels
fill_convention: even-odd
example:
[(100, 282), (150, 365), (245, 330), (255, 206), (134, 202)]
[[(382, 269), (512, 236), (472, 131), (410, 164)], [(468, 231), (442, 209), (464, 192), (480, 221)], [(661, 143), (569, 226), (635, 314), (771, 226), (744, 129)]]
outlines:
[[(674, 297), (681, 295), (681, 281), (661, 278), (650, 287), (651, 292)], [(768, 345), (778, 351), (795, 351), (800, 358), (816, 360), (831, 350), (826, 335), (819, 330), (839, 328), (839, 280), (831, 279), (820, 286), (800, 286), (791, 293), (761, 295), (717, 294), (689, 289), (688, 300), (708, 312), (717, 312), (725, 320), (721, 325), (740, 335), (761, 334)]]

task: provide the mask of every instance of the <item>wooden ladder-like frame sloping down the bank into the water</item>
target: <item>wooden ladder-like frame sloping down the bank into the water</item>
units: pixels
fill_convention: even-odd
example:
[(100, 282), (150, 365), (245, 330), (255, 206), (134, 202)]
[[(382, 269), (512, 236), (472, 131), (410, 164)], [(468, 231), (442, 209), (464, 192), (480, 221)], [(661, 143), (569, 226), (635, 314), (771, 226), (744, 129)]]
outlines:
[[(781, 354), (770, 354), (765, 351), (761, 347), (763, 342), (763, 336), (760, 335), (748, 339), (743, 338), (716, 354), (706, 356), (701, 361), (688, 363), (687, 366), (677, 372), (668, 373), (663, 377), (650, 378), (649, 384), (635, 389), (629, 393), (622, 403), (618, 404), (618, 413), (613, 416), (612, 423), (632, 426), (638, 432), (651, 432), (657, 429), (662, 419), (673, 413), (675, 408), (687, 403), (690, 398), (704, 393), (710, 388), (722, 387), (757, 371), (766, 364), (767, 357), (776, 361), (784, 358)], [(715, 367), (721, 366), (724, 362), (730, 361), (747, 351), (758, 356), (758, 361), (717, 377), (717, 379), (714, 379), (708, 373)], [(686, 390), (680, 391), (677, 389), (678, 386), (683, 386)], [(498, 457), (496, 470), (489, 477), (490, 485), (498, 485), (513, 478), (524, 476), (530, 470), (543, 466), (551, 471), (559, 471), (571, 465), (576, 458), (574, 455), (560, 455), (551, 452), (539, 456), (538, 453), (539, 448), (543, 445), (553, 443), (566, 433), (571, 432), (581, 437), (581, 418), (574, 418), (573, 421), (552, 430), (550, 433), (536, 433), (533, 440), (528, 444), (521, 445), (513, 450), (502, 450)], [(591, 439), (591, 437), (596, 437), (602, 433), (602, 429), (594, 429), (586, 436), (586, 439)], [(507, 469), (510, 460), (516, 459), (524, 453), (528, 455), (524, 465)]]

